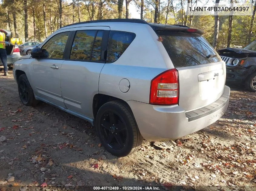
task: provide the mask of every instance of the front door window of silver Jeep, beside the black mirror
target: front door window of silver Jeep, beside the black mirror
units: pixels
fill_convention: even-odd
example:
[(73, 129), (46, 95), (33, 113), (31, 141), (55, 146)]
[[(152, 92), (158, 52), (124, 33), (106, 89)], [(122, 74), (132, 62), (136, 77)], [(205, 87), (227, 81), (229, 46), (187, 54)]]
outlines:
[(45, 51), (42, 57), (62, 59), (68, 40), (68, 34), (69, 32), (58, 33), (50, 38), (42, 47), (42, 50)]

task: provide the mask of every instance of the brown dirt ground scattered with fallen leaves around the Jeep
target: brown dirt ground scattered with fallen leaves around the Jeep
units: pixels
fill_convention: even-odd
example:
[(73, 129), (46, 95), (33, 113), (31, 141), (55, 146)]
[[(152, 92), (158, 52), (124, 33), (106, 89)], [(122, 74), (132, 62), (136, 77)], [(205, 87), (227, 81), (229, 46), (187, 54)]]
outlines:
[(85, 186), (256, 190), (255, 93), (232, 88), (224, 116), (175, 140), (174, 148), (161, 150), (144, 141), (136, 153), (117, 158), (86, 121), (46, 103), (22, 105), (9, 74), (0, 72), (2, 191), (93, 190)]

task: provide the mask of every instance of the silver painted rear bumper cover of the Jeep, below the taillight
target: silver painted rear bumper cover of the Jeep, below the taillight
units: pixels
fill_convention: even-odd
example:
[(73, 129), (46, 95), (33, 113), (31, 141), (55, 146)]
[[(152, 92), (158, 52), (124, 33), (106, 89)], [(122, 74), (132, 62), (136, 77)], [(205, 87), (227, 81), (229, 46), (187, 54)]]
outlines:
[[(185, 113), (178, 105), (155, 106), (133, 100), (127, 103), (131, 107), (143, 138), (148, 141), (160, 141), (183, 137), (217, 121), (228, 107), (229, 94), (230, 88), (225, 86), (222, 96), (225, 96), (227, 100), (223, 100), (224, 103), (212, 110), (212, 113), (199, 114), (200, 118), (194, 117), (193, 119), (189, 119), (189, 112)], [(211, 104), (209, 106), (211, 107)]]

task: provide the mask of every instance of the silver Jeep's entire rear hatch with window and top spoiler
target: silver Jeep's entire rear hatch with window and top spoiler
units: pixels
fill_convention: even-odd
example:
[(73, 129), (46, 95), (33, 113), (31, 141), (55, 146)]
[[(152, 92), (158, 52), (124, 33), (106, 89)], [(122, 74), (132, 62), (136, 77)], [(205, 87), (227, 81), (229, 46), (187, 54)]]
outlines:
[[(182, 29), (181, 29), (182, 28)], [(158, 30), (158, 37), (179, 76), (179, 106), (186, 112), (207, 106), (223, 94), (226, 68), (202, 31), (178, 27)]]

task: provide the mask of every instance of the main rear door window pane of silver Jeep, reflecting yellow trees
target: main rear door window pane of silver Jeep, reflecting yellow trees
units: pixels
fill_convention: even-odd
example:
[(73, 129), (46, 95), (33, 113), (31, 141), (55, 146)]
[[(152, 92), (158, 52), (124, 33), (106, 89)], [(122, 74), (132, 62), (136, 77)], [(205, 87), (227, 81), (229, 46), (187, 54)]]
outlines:
[(96, 32), (97, 30), (79, 30), (76, 32), (70, 59), (90, 60)]

